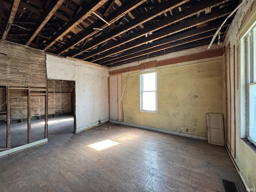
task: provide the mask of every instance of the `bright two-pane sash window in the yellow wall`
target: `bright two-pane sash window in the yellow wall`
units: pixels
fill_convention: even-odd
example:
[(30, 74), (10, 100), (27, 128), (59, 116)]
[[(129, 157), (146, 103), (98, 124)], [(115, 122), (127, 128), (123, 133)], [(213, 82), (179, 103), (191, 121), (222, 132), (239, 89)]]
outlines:
[(156, 73), (140, 75), (140, 110), (156, 112)]

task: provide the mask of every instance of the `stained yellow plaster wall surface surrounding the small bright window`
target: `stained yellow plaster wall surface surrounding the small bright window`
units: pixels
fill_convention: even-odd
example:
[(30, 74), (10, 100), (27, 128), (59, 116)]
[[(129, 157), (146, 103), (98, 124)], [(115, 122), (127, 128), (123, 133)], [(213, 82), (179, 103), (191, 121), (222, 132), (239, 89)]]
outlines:
[(158, 112), (140, 111), (140, 72), (124, 73), (124, 122), (207, 138), (206, 113), (223, 113), (222, 60), (154, 70)]

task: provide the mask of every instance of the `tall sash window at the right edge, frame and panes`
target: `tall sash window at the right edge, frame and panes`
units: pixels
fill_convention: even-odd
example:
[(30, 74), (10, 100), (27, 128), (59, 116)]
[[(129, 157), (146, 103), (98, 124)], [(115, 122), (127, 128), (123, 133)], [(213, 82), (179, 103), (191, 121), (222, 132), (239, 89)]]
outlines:
[(248, 140), (256, 144), (256, 26), (246, 35)]

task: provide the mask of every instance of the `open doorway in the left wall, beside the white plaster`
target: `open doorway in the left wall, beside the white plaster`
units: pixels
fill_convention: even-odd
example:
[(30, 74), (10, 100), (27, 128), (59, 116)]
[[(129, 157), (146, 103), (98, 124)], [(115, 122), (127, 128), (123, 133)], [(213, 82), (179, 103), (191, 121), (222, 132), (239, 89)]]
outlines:
[(48, 79), (48, 139), (76, 132), (75, 82)]

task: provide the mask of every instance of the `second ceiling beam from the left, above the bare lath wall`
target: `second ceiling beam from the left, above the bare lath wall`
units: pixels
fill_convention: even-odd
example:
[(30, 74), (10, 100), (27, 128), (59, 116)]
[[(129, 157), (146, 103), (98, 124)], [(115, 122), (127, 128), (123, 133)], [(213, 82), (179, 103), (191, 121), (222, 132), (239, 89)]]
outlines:
[(32, 40), (36, 37), (36, 35), (42, 30), (42, 28), (46, 25), (46, 23), (50, 20), (50, 18), (54, 15), (54, 13), (58, 10), (58, 8), (62, 5), (64, 0), (52, 0), (48, 6), (44, 9), (44, 12), (41, 14), (40, 18), (28, 33), (24, 44), (28, 46)]

